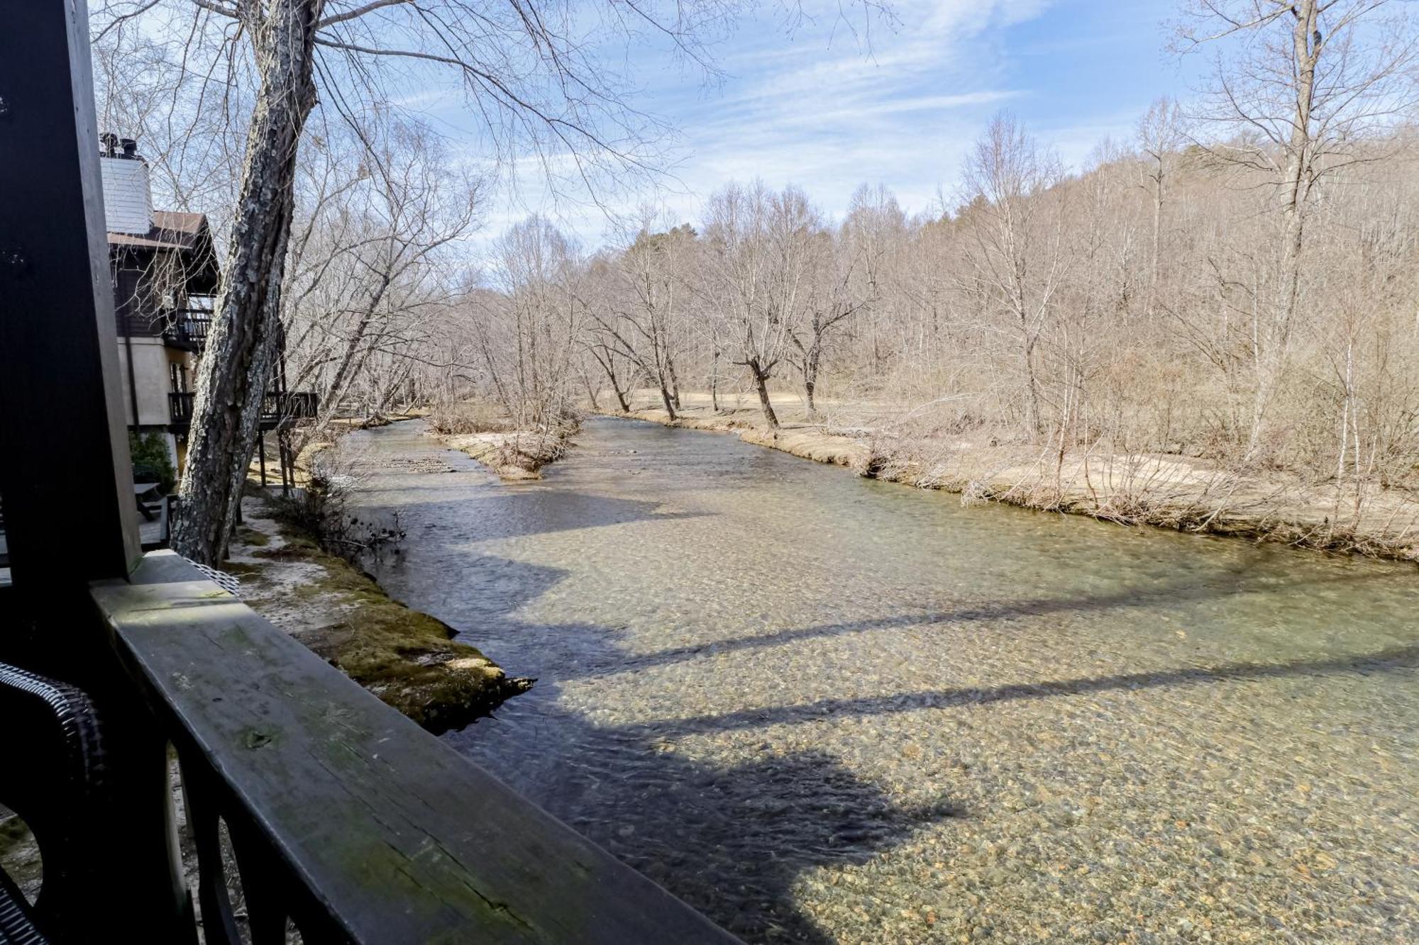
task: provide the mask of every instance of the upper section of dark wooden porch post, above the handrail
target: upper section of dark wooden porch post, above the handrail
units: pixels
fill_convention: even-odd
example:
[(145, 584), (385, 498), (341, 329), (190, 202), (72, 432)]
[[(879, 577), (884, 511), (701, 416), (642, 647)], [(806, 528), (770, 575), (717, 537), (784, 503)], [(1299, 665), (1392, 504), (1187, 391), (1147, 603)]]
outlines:
[(0, 497), (14, 589), (78, 595), (139, 559), (84, 0), (0, 30)]

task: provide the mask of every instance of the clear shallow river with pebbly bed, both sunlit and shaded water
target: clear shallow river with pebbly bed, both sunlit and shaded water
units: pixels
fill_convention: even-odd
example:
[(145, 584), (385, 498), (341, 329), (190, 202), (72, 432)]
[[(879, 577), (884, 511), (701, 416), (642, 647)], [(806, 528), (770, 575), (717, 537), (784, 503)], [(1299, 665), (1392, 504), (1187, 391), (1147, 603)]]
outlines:
[(746, 941), (1419, 941), (1413, 566), (629, 420), (525, 485), (355, 443), (385, 586), (538, 678), (447, 739)]

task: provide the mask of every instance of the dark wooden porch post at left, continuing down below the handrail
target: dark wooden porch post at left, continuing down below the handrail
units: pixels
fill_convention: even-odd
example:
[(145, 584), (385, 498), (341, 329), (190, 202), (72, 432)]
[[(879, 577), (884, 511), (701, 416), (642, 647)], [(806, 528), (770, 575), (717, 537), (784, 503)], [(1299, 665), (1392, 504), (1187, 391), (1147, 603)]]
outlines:
[[(0, 646), (79, 682), (105, 724), (88, 812), (104, 877), (82, 941), (125, 922), (180, 941), (166, 739), (122, 673), (88, 583), (138, 566), (85, 0), (9, 3), (0, 30), (0, 497), (13, 603)], [(18, 619), (16, 619), (18, 617)], [(116, 925), (115, 925), (116, 924)]]

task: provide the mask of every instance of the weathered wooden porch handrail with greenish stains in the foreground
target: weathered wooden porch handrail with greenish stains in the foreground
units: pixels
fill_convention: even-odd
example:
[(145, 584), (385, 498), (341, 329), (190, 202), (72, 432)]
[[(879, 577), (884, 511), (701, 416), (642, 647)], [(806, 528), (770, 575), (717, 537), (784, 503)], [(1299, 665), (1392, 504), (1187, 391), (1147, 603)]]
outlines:
[(287, 917), (307, 942), (735, 941), (172, 552), (91, 593), (177, 746), (206, 941), (231, 941), (217, 817), (253, 941)]

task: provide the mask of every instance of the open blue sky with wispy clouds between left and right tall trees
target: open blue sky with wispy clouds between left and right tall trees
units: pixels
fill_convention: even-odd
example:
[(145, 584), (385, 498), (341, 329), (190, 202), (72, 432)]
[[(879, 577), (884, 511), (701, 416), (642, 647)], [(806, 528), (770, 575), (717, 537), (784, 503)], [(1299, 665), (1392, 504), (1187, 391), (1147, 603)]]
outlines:
[[(677, 136), (666, 186), (620, 194), (613, 209), (654, 201), (694, 220), (721, 183), (753, 177), (799, 184), (830, 216), (864, 182), (885, 183), (908, 211), (938, 193), (954, 204), (966, 149), (996, 111), (1078, 166), (1103, 138), (1128, 138), (1156, 96), (1185, 96), (1198, 68), (1165, 48), (1178, 0), (894, 0), (895, 26), (874, 23), (870, 43), (837, 0), (803, 7), (812, 18), (792, 28), (776, 0), (741, 20), (712, 48), (724, 71), (712, 84), (663, 48), (622, 51), (636, 105)], [(606, 238), (600, 211), (553, 206), (522, 183), (517, 197), (494, 197), (484, 237), (543, 210), (589, 245)]]

